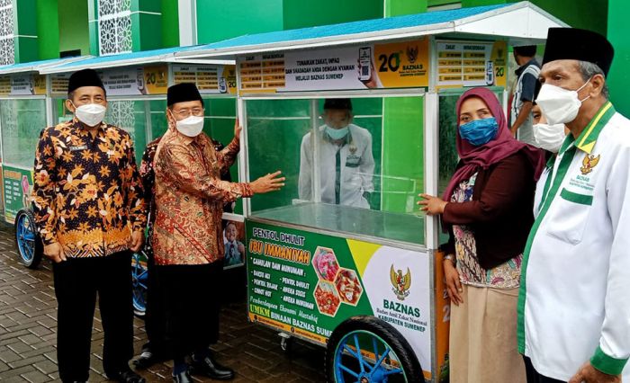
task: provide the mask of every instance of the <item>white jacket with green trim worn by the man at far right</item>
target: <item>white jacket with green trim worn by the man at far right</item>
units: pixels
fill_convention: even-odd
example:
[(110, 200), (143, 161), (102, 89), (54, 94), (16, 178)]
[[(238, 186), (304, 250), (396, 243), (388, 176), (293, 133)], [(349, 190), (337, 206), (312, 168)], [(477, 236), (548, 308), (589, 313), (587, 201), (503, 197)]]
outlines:
[(609, 102), (598, 118), (539, 181), (523, 261), (519, 350), (563, 381), (596, 353), (630, 357), (630, 120)]

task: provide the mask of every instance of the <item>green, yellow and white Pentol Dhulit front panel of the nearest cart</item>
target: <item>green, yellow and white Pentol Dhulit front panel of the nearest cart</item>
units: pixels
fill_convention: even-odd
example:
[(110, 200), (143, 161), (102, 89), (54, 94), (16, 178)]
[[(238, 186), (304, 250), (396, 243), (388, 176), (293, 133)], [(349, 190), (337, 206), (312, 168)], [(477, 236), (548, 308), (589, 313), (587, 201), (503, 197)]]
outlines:
[(431, 378), (428, 254), (251, 221), (246, 229), (251, 321), (325, 345), (350, 316), (376, 316)]

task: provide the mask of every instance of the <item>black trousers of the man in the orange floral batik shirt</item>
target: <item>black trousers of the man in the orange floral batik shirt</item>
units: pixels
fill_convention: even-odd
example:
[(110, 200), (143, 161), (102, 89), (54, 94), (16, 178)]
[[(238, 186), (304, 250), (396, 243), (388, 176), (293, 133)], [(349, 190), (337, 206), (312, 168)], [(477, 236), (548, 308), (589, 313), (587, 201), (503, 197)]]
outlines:
[(103, 369), (112, 375), (129, 368), (133, 356), (131, 253), (68, 258), (53, 264), (57, 296), (57, 359), (59, 378), (86, 381), (98, 295), (103, 323)]

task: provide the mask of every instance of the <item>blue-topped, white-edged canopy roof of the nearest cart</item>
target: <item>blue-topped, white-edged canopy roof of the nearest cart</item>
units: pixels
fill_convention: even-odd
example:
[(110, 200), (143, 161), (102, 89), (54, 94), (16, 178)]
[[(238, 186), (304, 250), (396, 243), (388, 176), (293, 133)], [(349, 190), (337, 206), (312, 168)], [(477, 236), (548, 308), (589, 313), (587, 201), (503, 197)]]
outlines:
[(224, 58), (425, 35), (509, 39), (512, 45), (544, 43), (547, 30), (569, 25), (530, 2), (460, 8), (290, 31), (272, 31), (214, 42), (175, 53), (175, 59)]

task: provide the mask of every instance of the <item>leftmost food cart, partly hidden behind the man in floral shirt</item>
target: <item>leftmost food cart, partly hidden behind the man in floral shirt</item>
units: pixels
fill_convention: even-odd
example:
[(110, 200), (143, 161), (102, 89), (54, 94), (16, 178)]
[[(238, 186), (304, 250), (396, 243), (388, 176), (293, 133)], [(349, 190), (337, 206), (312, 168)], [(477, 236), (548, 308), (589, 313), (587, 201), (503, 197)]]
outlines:
[(40, 70), (81, 58), (57, 58), (0, 67), (0, 156), (4, 221), (15, 226), (20, 261), (36, 267), (41, 259), (29, 209), (32, 165), (40, 130), (52, 123), (49, 83)]

